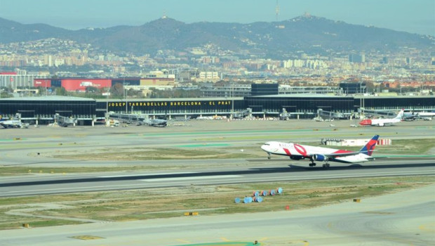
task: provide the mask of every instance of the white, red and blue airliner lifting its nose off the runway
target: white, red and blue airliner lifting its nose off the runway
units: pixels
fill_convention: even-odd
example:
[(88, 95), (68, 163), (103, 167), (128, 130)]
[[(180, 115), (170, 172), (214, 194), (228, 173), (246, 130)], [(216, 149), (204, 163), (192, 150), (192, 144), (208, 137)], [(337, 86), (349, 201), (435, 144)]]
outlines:
[(375, 160), (371, 155), (375, 150), (377, 138), (379, 138), (379, 135), (373, 136), (358, 152), (275, 141), (263, 144), (261, 149), (265, 150), (269, 155), (268, 159), (270, 159), (271, 154), (287, 155), (291, 160), (310, 160), (309, 167), (316, 166), (314, 161), (325, 162), (323, 167), (329, 167), (328, 162), (359, 163)]

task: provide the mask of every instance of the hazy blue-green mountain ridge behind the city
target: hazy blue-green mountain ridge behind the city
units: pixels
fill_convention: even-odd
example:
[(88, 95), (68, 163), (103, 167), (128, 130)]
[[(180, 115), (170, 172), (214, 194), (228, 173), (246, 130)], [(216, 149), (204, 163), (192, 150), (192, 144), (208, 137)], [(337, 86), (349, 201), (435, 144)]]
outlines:
[[(66, 30), (46, 24), (21, 24), (0, 18), (0, 43), (44, 38), (72, 39), (121, 53), (156, 53), (159, 50), (187, 51), (213, 46), (219, 51), (250, 56), (289, 57), (297, 51), (331, 52), (394, 51), (408, 46), (434, 47), (435, 38), (380, 27), (352, 25), (313, 15), (276, 22), (194, 22), (159, 18), (143, 25)], [(246, 52), (248, 51), (248, 52)]]

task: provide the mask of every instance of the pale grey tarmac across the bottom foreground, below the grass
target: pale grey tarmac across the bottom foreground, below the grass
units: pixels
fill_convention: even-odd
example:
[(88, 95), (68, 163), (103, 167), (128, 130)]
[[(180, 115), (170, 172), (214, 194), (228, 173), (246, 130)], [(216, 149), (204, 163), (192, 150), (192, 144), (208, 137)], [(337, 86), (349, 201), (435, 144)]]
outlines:
[(1, 245), (435, 245), (435, 186), (313, 209), (0, 231)]

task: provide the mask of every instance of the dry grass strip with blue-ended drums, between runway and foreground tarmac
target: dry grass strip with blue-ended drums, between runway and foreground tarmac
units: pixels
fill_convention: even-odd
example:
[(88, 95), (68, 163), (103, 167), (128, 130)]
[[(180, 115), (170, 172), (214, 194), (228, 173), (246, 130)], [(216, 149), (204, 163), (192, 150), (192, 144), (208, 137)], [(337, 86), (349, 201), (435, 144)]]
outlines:
[[(272, 212), (285, 209), (308, 209), (333, 203), (349, 202), (354, 198), (368, 198), (395, 193), (435, 183), (434, 176), (410, 176), (367, 179), (340, 179), (323, 181), (297, 181), (281, 183), (250, 183), (225, 186), (189, 186), (152, 190), (128, 190), (69, 195), (44, 195), (29, 198), (0, 198), (0, 213), (8, 221), (34, 223), (40, 218), (20, 217), (6, 212), (22, 207), (35, 207), (34, 216), (56, 216), (53, 224), (65, 218), (94, 219), (100, 221), (128, 221), (137, 219), (183, 216), (184, 212), (204, 214), (231, 214)], [(261, 203), (236, 204), (253, 191), (283, 188), (282, 195), (267, 196)], [(37, 209), (38, 202), (68, 205), (63, 209)], [(27, 222), (22, 222), (27, 221)], [(44, 219), (46, 221), (46, 219)], [(79, 223), (79, 222), (74, 222)], [(83, 222), (82, 222), (83, 223)], [(15, 228), (0, 224), (0, 228)]]

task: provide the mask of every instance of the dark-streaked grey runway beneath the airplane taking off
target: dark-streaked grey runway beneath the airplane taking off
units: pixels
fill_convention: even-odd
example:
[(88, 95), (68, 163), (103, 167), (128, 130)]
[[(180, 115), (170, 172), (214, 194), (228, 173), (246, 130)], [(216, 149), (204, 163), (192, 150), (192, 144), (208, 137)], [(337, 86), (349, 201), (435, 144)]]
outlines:
[[(267, 161), (258, 161), (264, 163)], [(34, 174), (9, 176), (0, 183), (0, 197), (44, 195), (55, 193), (91, 192), (140, 188), (220, 185), (229, 183), (259, 183), (344, 179), (379, 176), (435, 175), (433, 160), (382, 160), (370, 164), (340, 164), (324, 169), (278, 162), (257, 167), (229, 169), (183, 169), (161, 172), (112, 172), (109, 174)]]

